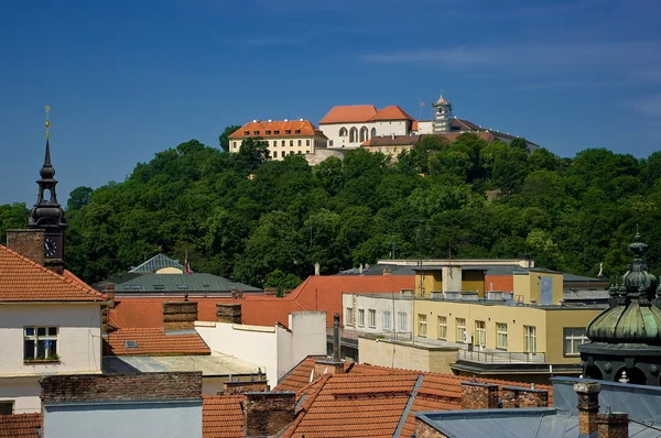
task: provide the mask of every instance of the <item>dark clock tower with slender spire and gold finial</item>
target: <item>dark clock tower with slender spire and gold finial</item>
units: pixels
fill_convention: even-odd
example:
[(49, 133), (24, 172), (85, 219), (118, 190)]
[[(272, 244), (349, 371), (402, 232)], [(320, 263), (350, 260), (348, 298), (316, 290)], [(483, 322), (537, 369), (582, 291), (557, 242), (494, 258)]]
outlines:
[(46, 107), (46, 155), (40, 172), (41, 178), (36, 182), (39, 195), (34, 208), (30, 211), (28, 228), (44, 230), (44, 265), (51, 271), (62, 274), (64, 272), (64, 230), (67, 223), (64, 210), (55, 195), (57, 182), (54, 179), (55, 169), (51, 164), (50, 110), (51, 108)]

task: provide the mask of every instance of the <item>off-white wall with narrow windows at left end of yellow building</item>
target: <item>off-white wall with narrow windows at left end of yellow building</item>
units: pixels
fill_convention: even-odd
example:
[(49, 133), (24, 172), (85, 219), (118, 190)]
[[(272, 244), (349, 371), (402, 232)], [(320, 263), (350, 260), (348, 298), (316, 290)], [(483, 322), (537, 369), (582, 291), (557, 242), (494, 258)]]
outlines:
[[(353, 308), (354, 325), (347, 326), (346, 315), (347, 307)], [(358, 310), (365, 310), (365, 326), (358, 326)], [(369, 327), (369, 309), (377, 311), (376, 327)], [(362, 294), (343, 294), (342, 295), (342, 311), (343, 325), (347, 330), (356, 330), (359, 332), (381, 333), (386, 331), (399, 331), (398, 313), (407, 314), (407, 332), (413, 331), (413, 311), (412, 299), (401, 299), (399, 294), (379, 294), (379, 297)], [(383, 313), (390, 311), (390, 330), (383, 328)]]

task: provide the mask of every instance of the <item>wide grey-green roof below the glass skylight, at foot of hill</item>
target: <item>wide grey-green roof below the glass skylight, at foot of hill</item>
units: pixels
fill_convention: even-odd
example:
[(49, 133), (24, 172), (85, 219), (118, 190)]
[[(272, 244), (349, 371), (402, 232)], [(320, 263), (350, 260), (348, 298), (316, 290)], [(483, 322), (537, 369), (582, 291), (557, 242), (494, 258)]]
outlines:
[(193, 274), (143, 274), (117, 284), (117, 293), (140, 292), (261, 292), (260, 288), (205, 273)]

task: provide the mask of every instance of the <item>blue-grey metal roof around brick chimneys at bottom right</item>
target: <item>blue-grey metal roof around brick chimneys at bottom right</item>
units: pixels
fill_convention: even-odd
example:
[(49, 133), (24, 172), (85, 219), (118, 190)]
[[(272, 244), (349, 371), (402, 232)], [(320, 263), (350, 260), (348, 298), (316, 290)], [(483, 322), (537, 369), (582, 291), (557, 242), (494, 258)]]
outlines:
[[(416, 417), (452, 438), (576, 437), (578, 412), (573, 384), (582, 379), (553, 377), (554, 407), (418, 413)], [(599, 412), (626, 412), (630, 419), (661, 426), (661, 388), (599, 381)], [(629, 436), (661, 437), (661, 431), (629, 423)]]

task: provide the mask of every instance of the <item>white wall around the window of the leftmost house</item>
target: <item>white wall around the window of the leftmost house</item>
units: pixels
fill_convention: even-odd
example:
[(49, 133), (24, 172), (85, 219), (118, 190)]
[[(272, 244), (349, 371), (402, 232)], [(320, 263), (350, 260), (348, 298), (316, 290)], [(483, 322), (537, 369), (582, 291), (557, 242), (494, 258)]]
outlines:
[[(23, 327), (59, 328), (59, 362), (23, 363)], [(0, 377), (101, 371), (101, 310), (96, 304), (0, 305)]]

